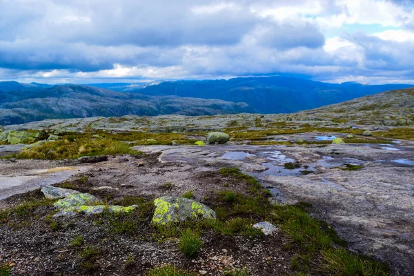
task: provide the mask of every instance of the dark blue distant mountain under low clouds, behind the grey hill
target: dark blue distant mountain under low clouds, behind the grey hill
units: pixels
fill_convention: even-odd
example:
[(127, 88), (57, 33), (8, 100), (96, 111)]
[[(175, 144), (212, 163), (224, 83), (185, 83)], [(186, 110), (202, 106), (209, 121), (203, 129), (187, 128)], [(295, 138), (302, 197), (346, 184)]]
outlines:
[(247, 103), (256, 113), (291, 113), (348, 101), (411, 85), (324, 83), (295, 77), (246, 77), (211, 81), (166, 81), (135, 90), (144, 95), (175, 95)]

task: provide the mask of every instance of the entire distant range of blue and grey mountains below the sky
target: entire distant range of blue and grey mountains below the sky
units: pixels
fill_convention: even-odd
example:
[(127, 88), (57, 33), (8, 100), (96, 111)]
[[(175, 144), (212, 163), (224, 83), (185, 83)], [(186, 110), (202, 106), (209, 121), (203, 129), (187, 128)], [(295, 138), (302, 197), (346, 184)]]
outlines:
[(295, 77), (88, 86), (2, 81), (0, 124), (93, 116), (290, 113), (408, 87), (411, 85), (337, 84)]

